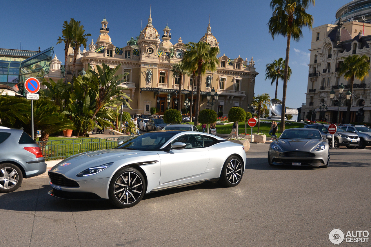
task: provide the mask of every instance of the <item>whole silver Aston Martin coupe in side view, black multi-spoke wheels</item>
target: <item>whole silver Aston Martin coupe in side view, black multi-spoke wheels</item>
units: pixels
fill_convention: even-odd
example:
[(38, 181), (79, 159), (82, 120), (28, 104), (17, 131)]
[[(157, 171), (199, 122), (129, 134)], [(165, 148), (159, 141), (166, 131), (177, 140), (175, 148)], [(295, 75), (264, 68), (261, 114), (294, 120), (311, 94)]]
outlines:
[(115, 149), (71, 156), (49, 170), (49, 194), (62, 199), (109, 200), (132, 207), (146, 193), (203, 181), (240, 183), (246, 153), (240, 144), (200, 132), (154, 131)]

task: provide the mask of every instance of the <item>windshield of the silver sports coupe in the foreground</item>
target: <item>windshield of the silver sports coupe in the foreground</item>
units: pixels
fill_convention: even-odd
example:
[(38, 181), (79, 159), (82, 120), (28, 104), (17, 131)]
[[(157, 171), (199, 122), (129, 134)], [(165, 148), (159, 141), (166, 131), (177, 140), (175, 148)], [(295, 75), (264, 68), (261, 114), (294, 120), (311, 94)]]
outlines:
[(117, 148), (133, 149), (141, 151), (157, 151), (165, 142), (172, 138), (175, 133), (150, 132), (137, 135), (122, 143)]

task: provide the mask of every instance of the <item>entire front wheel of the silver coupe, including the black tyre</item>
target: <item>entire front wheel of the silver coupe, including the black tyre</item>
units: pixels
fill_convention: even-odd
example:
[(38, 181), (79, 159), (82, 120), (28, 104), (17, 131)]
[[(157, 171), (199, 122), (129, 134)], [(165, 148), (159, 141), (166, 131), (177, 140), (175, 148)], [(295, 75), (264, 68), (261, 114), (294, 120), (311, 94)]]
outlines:
[(135, 206), (142, 200), (145, 188), (141, 172), (132, 167), (121, 168), (109, 184), (109, 201), (121, 208)]

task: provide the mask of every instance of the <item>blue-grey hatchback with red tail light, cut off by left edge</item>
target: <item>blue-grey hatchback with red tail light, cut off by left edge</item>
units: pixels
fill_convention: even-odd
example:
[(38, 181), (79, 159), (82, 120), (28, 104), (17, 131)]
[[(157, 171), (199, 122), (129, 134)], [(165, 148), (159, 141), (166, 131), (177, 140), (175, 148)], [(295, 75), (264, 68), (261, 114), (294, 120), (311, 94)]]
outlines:
[(13, 192), (29, 178), (46, 171), (43, 154), (33, 139), (20, 129), (0, 126), (0, 193)]

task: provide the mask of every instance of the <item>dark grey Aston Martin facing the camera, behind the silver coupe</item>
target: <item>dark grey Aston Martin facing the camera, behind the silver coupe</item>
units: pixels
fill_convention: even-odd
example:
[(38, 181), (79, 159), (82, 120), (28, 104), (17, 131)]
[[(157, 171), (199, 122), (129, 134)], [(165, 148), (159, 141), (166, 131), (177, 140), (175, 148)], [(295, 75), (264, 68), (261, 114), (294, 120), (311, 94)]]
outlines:
[[(273, 135), (272, 138), (274, 137)], [(331, 135), (326, 135), (325, 138), (331, 139)], [(286, 129), (279, 139), (270, 144), (268, 163), (271, 166), (328, 167), (329, 146), (318, 129)]]

